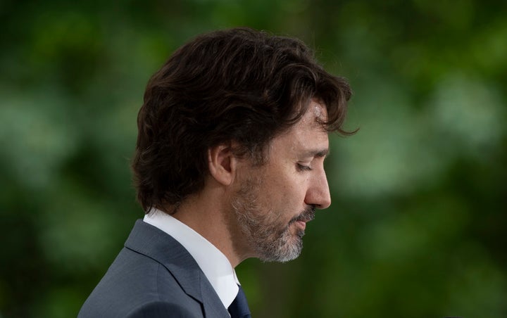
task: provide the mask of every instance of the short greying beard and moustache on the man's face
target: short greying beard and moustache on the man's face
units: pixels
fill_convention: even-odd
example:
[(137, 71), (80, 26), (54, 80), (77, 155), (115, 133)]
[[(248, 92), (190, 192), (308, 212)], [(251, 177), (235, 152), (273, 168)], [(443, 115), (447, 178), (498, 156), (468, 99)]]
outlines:
[(294, 260), (303, 249), (304, 230), (297, 228), (292, 234), (291, 226), (297, 221), (313, 220), (315, 207), (308, 205), (299, 215), (285, 222), (280, 220), (283, 213), (261, 207), (260, 189), (260, 180), (249, 179), (232, 198), (232, 210), (246, 243), (264, 262)]

